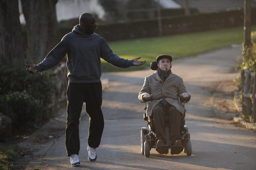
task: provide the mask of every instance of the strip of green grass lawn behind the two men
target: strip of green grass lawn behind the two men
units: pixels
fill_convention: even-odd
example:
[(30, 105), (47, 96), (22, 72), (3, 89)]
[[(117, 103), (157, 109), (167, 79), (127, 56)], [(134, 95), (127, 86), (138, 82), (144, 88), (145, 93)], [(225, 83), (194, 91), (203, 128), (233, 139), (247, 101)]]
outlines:
[[(251, 27), (256, 31), (256, 26)], [(121, 69), (102, 61), (102, 71), (131, 71), (144, 69), (149, 66), (158, 55), (168, 54), (173, 59), (187, 56), (196, 56), (215, 48), (231, 44), (243, 43), (243, 27), (213, 30), (200, 33), (172, 35), (156, 38), (144, 38), (135, 40), (124, 40), (109, 42), (113, 52), (125, 59), (142, 57), (147, 63), (139, 67)]]

